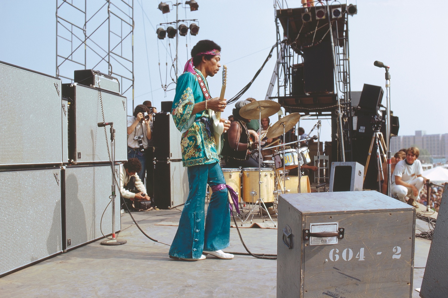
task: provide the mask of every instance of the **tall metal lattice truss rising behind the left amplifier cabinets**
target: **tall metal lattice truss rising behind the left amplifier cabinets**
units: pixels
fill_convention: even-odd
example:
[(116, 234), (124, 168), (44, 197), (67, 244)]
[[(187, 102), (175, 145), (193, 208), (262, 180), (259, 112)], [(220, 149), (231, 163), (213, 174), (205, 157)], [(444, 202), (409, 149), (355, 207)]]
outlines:
[(134, 0), (56, 0), (56, 77), (79, 69), (118, 78), (134, 110)]

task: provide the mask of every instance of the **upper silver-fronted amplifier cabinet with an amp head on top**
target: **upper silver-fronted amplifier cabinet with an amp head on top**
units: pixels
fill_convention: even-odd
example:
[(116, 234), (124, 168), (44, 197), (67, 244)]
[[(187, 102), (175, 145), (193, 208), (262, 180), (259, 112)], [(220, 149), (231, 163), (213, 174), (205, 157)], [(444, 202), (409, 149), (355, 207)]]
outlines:
[(109, 162), (110, 126), (97, 125), (98, 122), (103, 122), (102, 110), (104, 121), (113, 122), (116, 130), (115, 160), (126, 161), (128, 159), (126, 97), (105, 90), (99, 92), (98, 89), (79, 84), (62, 84), (62, 94), (70, 101), (70, 164)]

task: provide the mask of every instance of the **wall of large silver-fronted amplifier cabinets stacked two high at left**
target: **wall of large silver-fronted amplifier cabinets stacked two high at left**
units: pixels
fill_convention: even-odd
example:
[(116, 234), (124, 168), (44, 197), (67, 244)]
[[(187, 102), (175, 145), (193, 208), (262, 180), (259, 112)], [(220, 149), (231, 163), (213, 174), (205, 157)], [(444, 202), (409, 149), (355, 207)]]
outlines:
[[(0, 277), (111, 234), (110, 140), (97, 122), (114, 123), (126, 160), (126, 98), (94, 73), (112, 91), (0, 61)], [(120, 231), (120, 208), (115, 221)]]

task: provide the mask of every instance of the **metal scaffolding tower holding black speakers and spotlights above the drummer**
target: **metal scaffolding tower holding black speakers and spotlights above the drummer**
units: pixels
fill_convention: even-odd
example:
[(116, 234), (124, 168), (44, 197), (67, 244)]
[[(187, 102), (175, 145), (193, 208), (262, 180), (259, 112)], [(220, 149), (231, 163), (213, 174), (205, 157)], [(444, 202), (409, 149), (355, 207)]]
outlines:
[[(336, 156), (333, 160), (350, 161), (353, 123), (348, 17), (356, 14), (356, 6), (335, 4), (336, 2), (325, 5), (323, 2), (325, 1), (314, 1), (315, 6), (300, 8), (276, 7), (277, 96), (269, 98), (277, 98), (280, 105), (290, 113), (310, 114), (313, 118), (331, 118), (332, 139), (337, 142), (337, 146), (334, 144), (332, 148), (333, 156)], [(319, 62), (315, 57), (322, 55), (324, 47), (324, 55), (329, 55), (330, 60), (326, 61), (325, 57), (322, 57)], [(319, 67), (322, 67), (322, 72), (327, 71), (332, 80), (325, 82), (322, 77), (322, 81), (316, 81), (315, 77), (307, 77), (307, 72), (304, 71), (307, 67), (306, 57), (314, 59), (312, 67), (308, 62), (308, 74), (314, 72), (314, 76), (320, 75)], [(300, 77), (300, 71), (301, 78), (297, 79)], [(322, 88), (321, 85), (325, 84), (333, 84), (333, 87), (327, 90), (306, 90), (313, 80), (314, 88)]]

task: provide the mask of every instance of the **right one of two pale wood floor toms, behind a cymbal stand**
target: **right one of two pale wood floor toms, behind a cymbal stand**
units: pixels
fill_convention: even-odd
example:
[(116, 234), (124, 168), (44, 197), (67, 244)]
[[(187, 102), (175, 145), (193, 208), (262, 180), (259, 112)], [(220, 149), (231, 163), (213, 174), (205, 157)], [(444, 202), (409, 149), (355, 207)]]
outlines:
[[(258, 168), (243, 168), (243, 201), (255, 203), (258, 199)], [(261, 193), (263, 202), (274, 201), (274, 169), (261, 169)]]

